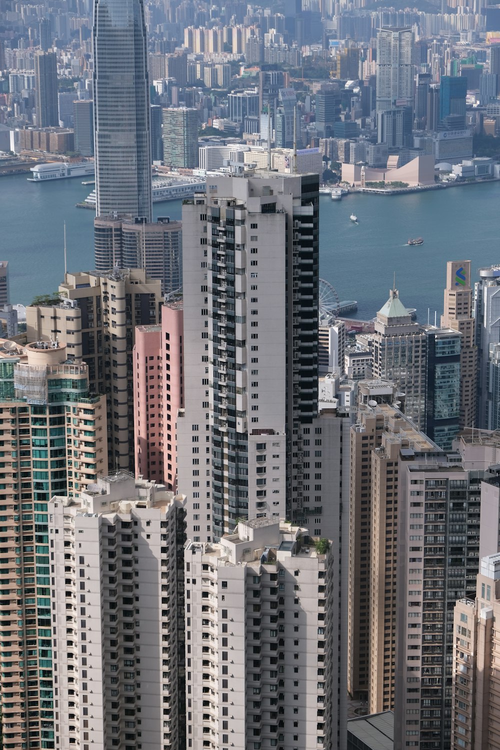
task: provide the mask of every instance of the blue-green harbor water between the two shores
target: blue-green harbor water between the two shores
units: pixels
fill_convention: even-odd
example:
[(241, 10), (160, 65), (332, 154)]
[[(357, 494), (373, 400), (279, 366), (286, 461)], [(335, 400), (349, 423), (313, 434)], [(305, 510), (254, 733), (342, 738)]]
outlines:
[[(29, 304), (56, 290), (64, 274), (64, 221), (69, 271), (94, 265), (94, 212), (76, 208), (91, 187), (79, 178), (34, 184), (0, 178), (0, 260), (9, 261), (10, 299)], [(400, 196), (320, 196), (320, 275), (341, 300), (357, 299), (353, 317), (372, 318), (396, 274), (403, 304), (427, 320), (442, 311), (447, 260), (500, 263), (500, 182)], [(155, 203), (154, 217), (180, 219), (180, 200)], [(358, 223), (349, 217), (354, 213)], [(412, 237), (424, 244), (409, 247)]]

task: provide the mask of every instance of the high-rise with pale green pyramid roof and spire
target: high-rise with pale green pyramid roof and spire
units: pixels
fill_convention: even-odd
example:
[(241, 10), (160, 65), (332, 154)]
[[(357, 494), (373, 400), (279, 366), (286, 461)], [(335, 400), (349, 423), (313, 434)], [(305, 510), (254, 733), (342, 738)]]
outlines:
[(405, 395), (405, 414), (419, 430), (425, 419), (425, 371), (425, 332), (392, 289), (375, 321), (373, 377), (397, 383)]

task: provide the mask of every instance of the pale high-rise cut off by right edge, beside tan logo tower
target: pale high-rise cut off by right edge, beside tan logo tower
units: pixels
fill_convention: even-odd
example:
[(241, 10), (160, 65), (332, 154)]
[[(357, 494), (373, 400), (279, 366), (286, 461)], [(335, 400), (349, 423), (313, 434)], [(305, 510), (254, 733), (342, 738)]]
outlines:
[[(500, 45), (499, 45), (500, 46)], [(495, 349), (500, 344), (500, 266), (479, 269), (474, 302), (475, 343), (478, 347), (478, 408), (476, 427), (498, 429), (494, 392)]]

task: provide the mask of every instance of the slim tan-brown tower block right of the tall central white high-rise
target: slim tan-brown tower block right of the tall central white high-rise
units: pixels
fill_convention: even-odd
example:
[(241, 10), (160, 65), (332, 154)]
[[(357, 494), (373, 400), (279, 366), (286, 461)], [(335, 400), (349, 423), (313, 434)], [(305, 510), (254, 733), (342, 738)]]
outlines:
[(400, 450), (439, 448), (400, 412), (394, 383), (362, 381), (359, 392), (350, 449), (348, 689), (378, 712), (394, 707)]

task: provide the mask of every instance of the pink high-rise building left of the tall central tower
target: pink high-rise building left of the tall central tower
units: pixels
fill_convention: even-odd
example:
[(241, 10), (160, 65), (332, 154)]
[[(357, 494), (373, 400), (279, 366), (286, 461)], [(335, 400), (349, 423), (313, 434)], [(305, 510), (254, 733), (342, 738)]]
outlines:
[(138, 326), (133, 347), (136, 476), (175, 489), (175, 422), (184, 406), (182, 303), (161, 308), (161, 323)]

